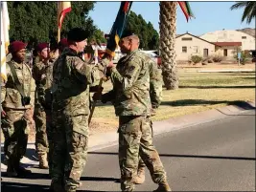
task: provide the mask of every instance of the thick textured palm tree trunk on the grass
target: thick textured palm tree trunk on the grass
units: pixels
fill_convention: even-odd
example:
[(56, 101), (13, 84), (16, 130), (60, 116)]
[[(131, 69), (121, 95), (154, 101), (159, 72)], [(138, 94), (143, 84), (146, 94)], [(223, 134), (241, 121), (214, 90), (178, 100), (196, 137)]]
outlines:
[(160, 54), (163, 80), (167, 90), (178, 88), (175, 60), (176, 5), (174, 1), (160, 2)]

